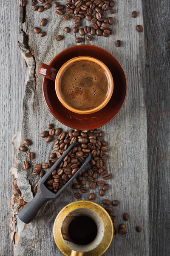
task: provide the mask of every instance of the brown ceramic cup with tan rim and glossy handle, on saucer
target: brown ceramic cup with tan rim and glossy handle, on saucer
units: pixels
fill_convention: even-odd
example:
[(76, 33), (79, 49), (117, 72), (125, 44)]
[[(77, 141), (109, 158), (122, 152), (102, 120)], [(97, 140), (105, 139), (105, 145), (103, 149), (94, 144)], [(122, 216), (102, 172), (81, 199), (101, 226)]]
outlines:
[[(69, 105), (65, 101), (64, 97), (62, 96), (61, 88), (60, 88), (60, 79), (63, 76), (63, 73), (65, 72), (65, 70), (71, 64), (73, 64), (77, 61), (92, 61), (92, 62), (98, 64), (105, 71), (105, 74), (108, 78), (108, 94), (107, 94), (106, 98), (104, 99), (104, 101), (96, 108), (91, 108), (88, 110), (80, 110), (77, 108), (73, 108), (71, 105)], [(108, 69), (108, 67), (102, 61), (98, 60), (97, 58), (90, 57), (90, 56), (78, 56), (78, 57), (72, 58), (69, 61), (67, 61), (65, 64), (63, 64), (62, 67), (58, 71), (51, 66), (41, 63), (38, 68), (38, 73), (41, 74), (42, 76), (45, 76), (48, 79), (55, 81), (55, 90), (56, 90), (57, 97), (58, 97), (59, 101), (62, 103), (63, 106), (65, 106), (65, 108), (67, 108), (68, 110), (70, 110), (74, 113), (91, 114), (91, 113), (95, 113), (95, 112), (101, 110), (109, 102), (109, 100), (111, 99), (112, 93), (113, 93), (113, 77), (112, 77), (111, 71)]]

